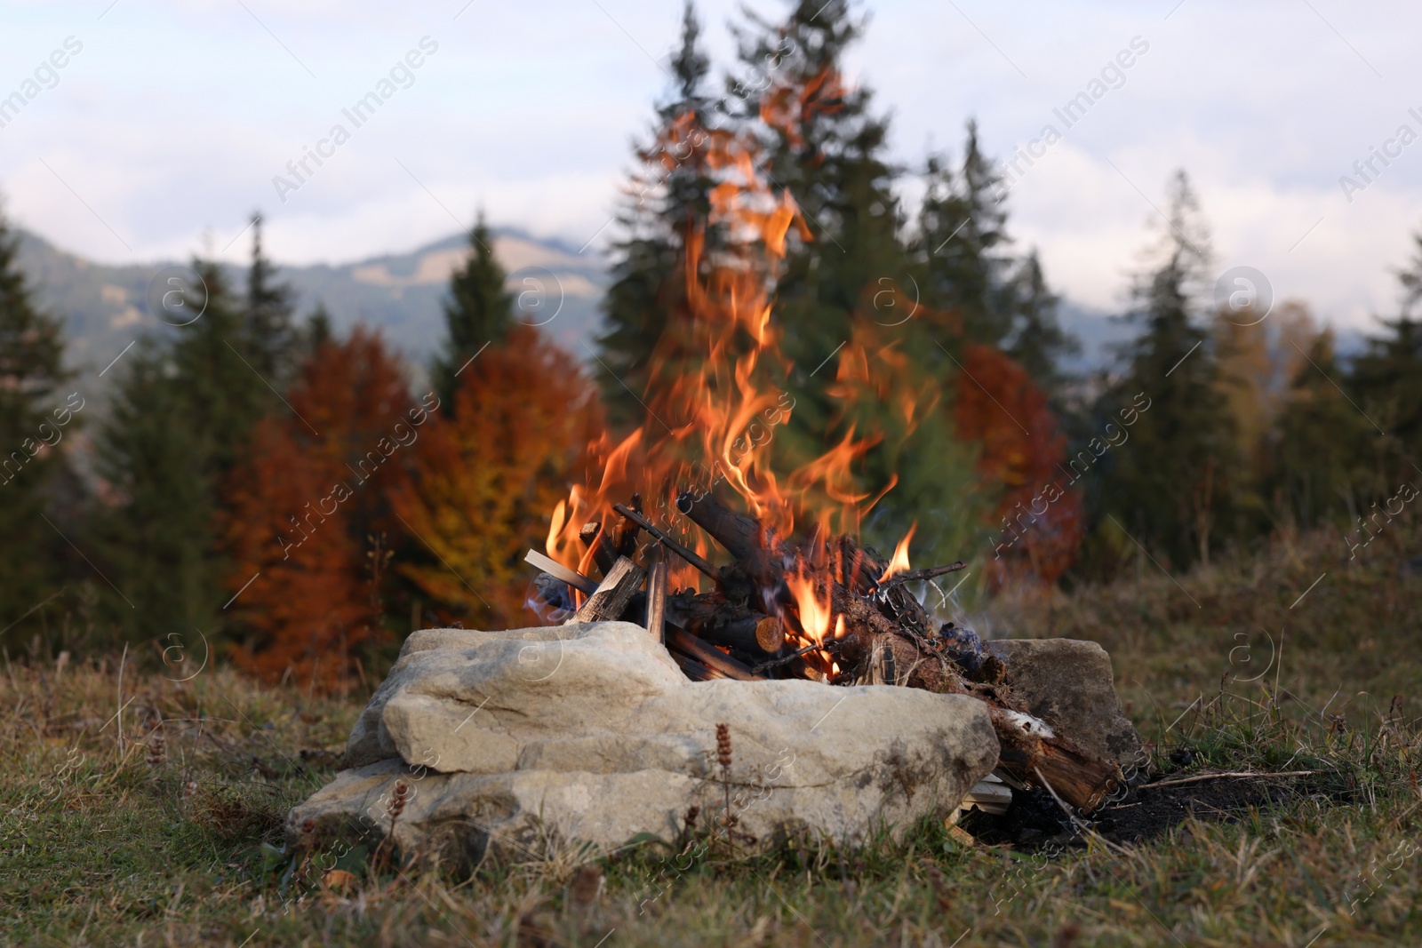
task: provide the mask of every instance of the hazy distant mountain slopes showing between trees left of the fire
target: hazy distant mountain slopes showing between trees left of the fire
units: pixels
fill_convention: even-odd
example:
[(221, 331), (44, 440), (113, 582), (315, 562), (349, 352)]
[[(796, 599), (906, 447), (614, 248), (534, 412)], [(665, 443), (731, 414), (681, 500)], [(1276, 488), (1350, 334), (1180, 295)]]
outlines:
[[(149, 283), (164, 267), (185, 262), (108, 266), (60, 250), (30, 232), (18, 236), (20, 266), (38, 301), (64, 318), (75, 368), (101, 371), (145, 330), (165, 328), (149, 311)], [(299, 316), (324, 303), (337, 331), (356, 323), (380, 327), (418, 370), (444, 334), (441, 301), (466, 246), (466, 237), (455, 235), (410, 253), (350, 264), (283, 266), (277, 277), (296, 290)], [(523, 294), (525, 307), (539, 313), (539, 323), (546, 320), (546, 331), (586, 358), (584, 344), (597, 333), (597, 304), (607, 284), (603, 260), (508, 227), (495, 230), (493, 252), (509, 271), (509, 290)], [(240, 291), (246, 270), (226, 270)]]

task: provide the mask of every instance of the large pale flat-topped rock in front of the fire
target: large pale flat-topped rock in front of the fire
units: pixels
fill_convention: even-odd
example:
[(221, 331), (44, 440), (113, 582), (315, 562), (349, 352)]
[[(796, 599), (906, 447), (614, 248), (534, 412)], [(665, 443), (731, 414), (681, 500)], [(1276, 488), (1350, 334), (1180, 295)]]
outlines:
[[(717, 762), (715, 725), (732, 763)], [(811, 681), (691, 682), (630, 623), (412, 634), (351, 732), (347, 767), (292, 810), (323, 837), (394, 836), (476, 863), (674, 840), (700, 807), (737, 846), (809, 833), (863, 841), (947, 814), (997, 763), (985, 705), (964, 695)], [(722, 830), (724, 831), (724, 830)]]

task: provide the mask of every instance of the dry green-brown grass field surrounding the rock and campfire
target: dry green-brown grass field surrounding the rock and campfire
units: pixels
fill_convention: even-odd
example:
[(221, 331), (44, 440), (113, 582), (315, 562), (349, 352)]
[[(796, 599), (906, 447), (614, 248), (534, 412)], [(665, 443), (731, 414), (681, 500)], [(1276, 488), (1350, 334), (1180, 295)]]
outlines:
[(1160, 770), (1325, 772), (1226, 820), (1204, 806), (1149, 841), (1089, 833), (1055, 857), (927, 824), (855, 851), (714, 846), (684, 868), (650, 847), (593, 864), (550, 851), (469, 878), (373, 871), (358, 849), (323, 877), (294, 871), (282, 817), (334, 773), (363, 695), (222, 667), (178, 682), (152, 645), (10, 657), (0, 941), (1419, 945), (1418, 540), (1381, 534), (1349, 561), (1338, 536), (1285, 536), (1175, 578), (1143, 559), (1129, 581), (980, 617), (998, 635), (1105, 645)]

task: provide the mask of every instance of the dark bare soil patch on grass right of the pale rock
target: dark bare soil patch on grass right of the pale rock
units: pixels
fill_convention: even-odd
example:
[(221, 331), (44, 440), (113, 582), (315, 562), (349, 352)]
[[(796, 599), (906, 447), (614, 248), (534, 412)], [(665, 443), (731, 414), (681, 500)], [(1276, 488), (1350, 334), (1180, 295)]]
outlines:
[[(1146, 783), (1169, 776), (1153, 775)], [(1251, 807), (1277, 806), (1320, 792), (1332, 799), (1347, 795), (1340, 787), (1324, 787), (1317, 777), (1219, 777), (1132, 789), (1125, 799), (1108, 803), (1082, 822), (1112, 843), (1140, 843), (1169, 831), (1190, 814), (1203, 822), (1230, 822)], [(1007, 813), (973, 810), (960, 824), (988, 846), (1039, 850), (1085, 844), (1081, 830), (1047, 790), (1014, 792)]]

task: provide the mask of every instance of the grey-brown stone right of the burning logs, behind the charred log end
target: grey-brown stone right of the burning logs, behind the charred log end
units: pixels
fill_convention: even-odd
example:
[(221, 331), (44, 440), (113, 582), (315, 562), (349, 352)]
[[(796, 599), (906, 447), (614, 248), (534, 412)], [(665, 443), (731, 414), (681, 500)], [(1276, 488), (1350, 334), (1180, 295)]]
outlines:
[(1121, 711), (1105, 648), (1075, 638), (1001, 638), (984, 645), (1007, 665), (1012, 694), (1058, 733), (1128, 773), (1145, 762), (1140, 735)]

